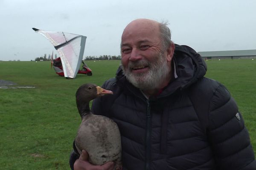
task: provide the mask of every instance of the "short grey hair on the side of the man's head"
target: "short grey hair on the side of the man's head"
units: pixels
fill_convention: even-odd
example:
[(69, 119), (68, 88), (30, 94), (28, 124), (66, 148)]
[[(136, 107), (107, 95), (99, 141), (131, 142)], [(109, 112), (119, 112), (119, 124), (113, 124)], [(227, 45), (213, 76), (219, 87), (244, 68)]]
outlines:
[(163, 41), (163, 49), (167, 49), (173, 43), (171, 40), (171, 31), (167, 25), (167, 22), (159, 23), (160, 38)]

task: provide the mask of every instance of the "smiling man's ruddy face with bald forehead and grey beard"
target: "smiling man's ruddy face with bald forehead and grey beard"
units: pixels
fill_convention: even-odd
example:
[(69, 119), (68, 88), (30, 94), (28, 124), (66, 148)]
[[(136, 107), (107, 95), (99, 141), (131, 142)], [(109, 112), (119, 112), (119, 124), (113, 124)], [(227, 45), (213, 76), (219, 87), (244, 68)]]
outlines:
[(125, 76), (137, 88), (158, 88), (168, 77), (170, 63), (155, 23), (130, 23), (122, 34), (121, 54)]

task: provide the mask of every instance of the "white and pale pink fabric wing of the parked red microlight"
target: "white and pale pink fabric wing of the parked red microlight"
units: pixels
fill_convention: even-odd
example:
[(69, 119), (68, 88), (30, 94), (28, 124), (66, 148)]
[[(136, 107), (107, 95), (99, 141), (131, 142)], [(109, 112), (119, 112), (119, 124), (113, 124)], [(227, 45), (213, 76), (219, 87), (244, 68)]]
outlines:
[(86, 37), (66, 32), (32, 29), (46, 37), (58, 51), (64, 77), (74, 79), (83, 59)]

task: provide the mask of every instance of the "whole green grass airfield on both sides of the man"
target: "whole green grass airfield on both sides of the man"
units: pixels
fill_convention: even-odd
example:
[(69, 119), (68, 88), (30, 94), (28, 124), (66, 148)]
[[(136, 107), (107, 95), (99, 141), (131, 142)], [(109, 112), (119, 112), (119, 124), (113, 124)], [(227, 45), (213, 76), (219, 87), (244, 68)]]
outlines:
[[(0, 89), (0, 169), (69, 170), (69, 154), (81, 122), (77, 88), (115, 76), (119, 60), (87, 61), (93, 76), (65, 79), (50, 62), (0, 62), (0, 79), (35, 88)], [(208, 60), (206, 77), (223, 83), (236, 99), (256, 150), (256, 62)]]

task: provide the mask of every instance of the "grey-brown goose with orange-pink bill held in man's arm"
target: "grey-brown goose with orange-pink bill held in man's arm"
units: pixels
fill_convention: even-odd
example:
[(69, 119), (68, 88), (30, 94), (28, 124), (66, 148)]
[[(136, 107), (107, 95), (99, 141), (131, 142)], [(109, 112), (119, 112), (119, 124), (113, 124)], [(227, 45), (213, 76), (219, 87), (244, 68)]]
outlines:
[(97, 97), (113, 94), (95, 84), (81, 85), (76, 92), (76, 105), (82, 122), (77, 131), (74, 150), (86, 150), (91, 164), (102, 165), (114, 161), (113, 170), (122, 169), (121, 137), (116, 123), (90, 111), (89, 102)]

